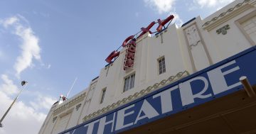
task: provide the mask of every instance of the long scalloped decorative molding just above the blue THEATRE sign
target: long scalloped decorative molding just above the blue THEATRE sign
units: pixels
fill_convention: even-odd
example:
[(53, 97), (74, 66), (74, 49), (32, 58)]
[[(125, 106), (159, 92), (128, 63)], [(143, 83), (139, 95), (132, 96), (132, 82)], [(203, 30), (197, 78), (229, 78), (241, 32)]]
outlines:
[(153, 91), (155, 89), (159, 89), (160, 87), (162, 87), (162, 86), (164, 86), (166, 84), (169, 84), (171, 82), (175, 82), (178, 79), (181, 79), (181, 78), (186, 77), (188, 75), (189, 75), (188, 71), (178, 72), (178, 74), (176, 74), (175, 76), (171, 76), (168, 79), (164, 79), (161, 82), (154, 84), (153, 86), (148, 86), (146, 89), (142, 89), (141, 91), (136, 92), (133, 95), (130, 95), (130, 96), (128, 96), (128, 97), (126, 97), (126, 98), (124, 98), (122, 100), (114, 102), (113, 104), (111, 104), (109, 106), (106, 106), (105, 108), (102, 108), (102, 109), (100, 109), (98, 111), (90, 113), (89, 115), (87, 115), (84, 118), (82, 118), (82, 121), (85, 122), (85, 121), (88, 121), (88, 120), (90, 120), (92, 118), (95, 118), (95, 116), (99, 116), (102, 113), (106, 113), (107, 111), (110, 111), (110, 110), (112, 110), (114, 108), (117, 108), (118, 106), (120, 106), (122, 104), (125, 104), (125, 103), (127, 103), (129, 101), (132, 101), (134, 99), (137, 99), (140, 96), (144, 96), (144, 95), (148, 94), (150, 91)]

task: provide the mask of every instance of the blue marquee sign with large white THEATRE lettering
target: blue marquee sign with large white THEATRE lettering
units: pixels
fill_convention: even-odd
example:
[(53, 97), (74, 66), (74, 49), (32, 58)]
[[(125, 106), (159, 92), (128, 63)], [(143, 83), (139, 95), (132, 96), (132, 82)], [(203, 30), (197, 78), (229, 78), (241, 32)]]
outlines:
[(255, 69), (253, 47), (61, 134), (119, 133), (156, 121), (242, 89), (242, 76), (256, 84)]

